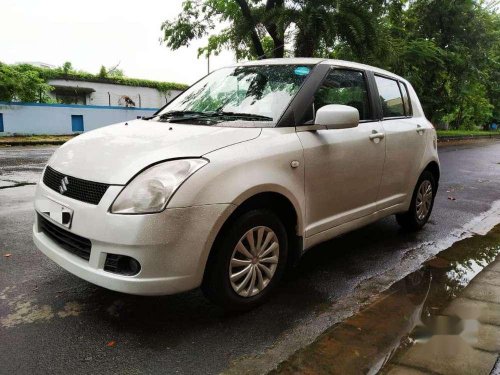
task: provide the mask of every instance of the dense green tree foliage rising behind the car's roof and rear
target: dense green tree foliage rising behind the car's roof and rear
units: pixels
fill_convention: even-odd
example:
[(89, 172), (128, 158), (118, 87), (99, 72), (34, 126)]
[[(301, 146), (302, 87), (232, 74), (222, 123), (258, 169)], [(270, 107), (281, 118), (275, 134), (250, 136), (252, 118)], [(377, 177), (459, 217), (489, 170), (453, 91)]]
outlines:
[(207, 37), (199, 55), (325, 57), (406, 77), (427, 116), (452, 128), (499, 117), (498, 1), (185, 0), (162, 25), (167, 47)]

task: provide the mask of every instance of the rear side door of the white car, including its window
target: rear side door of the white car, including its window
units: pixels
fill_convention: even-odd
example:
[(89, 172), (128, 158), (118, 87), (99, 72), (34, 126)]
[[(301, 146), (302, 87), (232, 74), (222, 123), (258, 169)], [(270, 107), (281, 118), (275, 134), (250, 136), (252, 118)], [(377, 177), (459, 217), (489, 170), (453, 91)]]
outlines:
[(392, 77), (375, 75), (382, 106), (386, 160), (380, 184), (379, 207), (402, 203), (413, 193), (425, 151), (426, 123), (413, 117), (406, 85)]

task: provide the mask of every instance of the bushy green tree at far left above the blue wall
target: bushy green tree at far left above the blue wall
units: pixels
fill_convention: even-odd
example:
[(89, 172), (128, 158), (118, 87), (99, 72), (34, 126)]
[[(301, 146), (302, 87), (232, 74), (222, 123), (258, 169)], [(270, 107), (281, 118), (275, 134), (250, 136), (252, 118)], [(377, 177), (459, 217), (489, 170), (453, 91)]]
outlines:
[(0, 101), (47, 102), (52, 87), (30, 65), (0, 63)]

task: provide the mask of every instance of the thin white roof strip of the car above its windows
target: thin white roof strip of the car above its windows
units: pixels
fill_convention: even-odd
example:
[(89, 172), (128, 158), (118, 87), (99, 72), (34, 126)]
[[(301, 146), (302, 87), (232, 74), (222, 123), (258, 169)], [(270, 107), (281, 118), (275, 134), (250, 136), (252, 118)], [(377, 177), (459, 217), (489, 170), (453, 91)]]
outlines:
[(404, 78), (398, 76), (397, 74), (391, 73), (387, 70), (377, 68), (375, 66), (360, 64), (352, 61), (346, 60), (335, 60), (335, 59), (322, 59), (316, 57), (291, 57), (282, 59), (263, 59), (263, 60), (253, 60), (246, 61), (243, 63), (235, 64), (235, 66), (251, 66), (251, 65), (291, 65), (291, 64), (304, 64), (304, 65), (317, 65), (317, 64), (327, 64), (334, 66), (341, 66), (345, 68), (370, 70), (373, 73), (378, 73), (381, 75), (393, 77), (399, 80), (406, 81)]

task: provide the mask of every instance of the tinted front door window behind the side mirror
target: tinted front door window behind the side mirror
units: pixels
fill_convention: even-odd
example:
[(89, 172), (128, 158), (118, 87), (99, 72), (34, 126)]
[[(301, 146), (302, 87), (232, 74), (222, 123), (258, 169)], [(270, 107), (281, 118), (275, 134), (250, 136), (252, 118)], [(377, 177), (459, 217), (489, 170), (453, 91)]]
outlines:
[(332, 70), (314, 97), (314, 109), (317, 111), (327, 104), (349, 105), (359, 111), (360, 120), (371, 120), (364, 74), (355, 70)]

